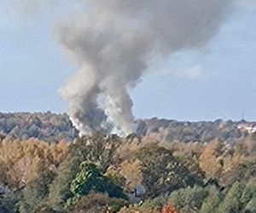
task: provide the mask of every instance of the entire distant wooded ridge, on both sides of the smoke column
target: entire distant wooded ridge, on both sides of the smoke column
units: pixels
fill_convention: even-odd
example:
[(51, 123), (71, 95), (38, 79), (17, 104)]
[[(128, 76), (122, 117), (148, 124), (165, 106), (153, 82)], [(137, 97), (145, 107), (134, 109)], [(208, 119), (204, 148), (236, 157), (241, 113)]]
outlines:
[[(167, 119), (137, 120), (137, 135), (158, 141), (209, 142), (220, 139), (236, 143), (246, 137), (246, 130), (239, 130), (239, 124), (246, 121), (232, 122), (216, 120), (214, 122), (178, 122)], [(79, 136), (67, 114), (51, 112), (38, 113), (0, 113), (0, 134), (11, 139), (27, 140), (37, 138), (42, 141), (73, 141)]]

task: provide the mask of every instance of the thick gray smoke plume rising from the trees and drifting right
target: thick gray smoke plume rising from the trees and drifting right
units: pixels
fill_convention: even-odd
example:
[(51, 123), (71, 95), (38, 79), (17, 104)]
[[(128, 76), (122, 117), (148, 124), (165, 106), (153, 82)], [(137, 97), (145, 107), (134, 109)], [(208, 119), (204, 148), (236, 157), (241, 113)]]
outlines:
[[(232, 0), (88, 0), (55, 36), (79, 71), (61, 89), (83, 134), (134, 131), (134, 87), (156, 57), (200, 48), (214, 36)], [(147, 104), (147, 103), (145, 103)]]

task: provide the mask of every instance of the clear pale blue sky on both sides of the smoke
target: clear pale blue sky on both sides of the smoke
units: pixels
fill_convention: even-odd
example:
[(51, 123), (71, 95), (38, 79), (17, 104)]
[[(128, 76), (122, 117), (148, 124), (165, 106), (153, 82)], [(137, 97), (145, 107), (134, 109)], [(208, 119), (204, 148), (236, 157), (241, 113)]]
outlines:
[[(0, 3), (0, 111), (66, 112), (58, 91), (76, 67), (53, 38), (61, 13), (18, 10)], [(131, 90), (137, 118), (191, 121), (256, 120), (255, 94), (255, 0), (237, 1), (207, 47), (156, 61)]]

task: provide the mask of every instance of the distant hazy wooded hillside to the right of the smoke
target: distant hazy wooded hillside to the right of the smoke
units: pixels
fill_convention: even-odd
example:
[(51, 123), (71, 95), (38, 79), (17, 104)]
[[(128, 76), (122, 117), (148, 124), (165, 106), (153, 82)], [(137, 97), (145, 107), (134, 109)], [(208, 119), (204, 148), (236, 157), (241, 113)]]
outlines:
[(232, 122), (216, 120), (213, 122), (178, 122), (167, 119), (138, 120), (137, 133), (159, 141), (199, 141), (209, 142), (214, 139), (235, 143), (248, 135), (246, 130), (239, 130), (239, 124), (246, 121)]

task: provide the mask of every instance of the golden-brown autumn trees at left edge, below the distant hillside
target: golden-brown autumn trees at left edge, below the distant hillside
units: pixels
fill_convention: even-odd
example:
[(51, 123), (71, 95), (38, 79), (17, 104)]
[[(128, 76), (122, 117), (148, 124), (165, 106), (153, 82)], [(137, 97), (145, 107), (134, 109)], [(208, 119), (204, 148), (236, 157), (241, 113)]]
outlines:
[(49, 145), (38, 140), (3, 141), (0, 147), (0, 166), (4, 169), (1, 176), (5, 176), (9, 184), (20, 187), (37, 176), (39, 167), (55, 170), (67, 157), (68, 146), (66, 142)]

